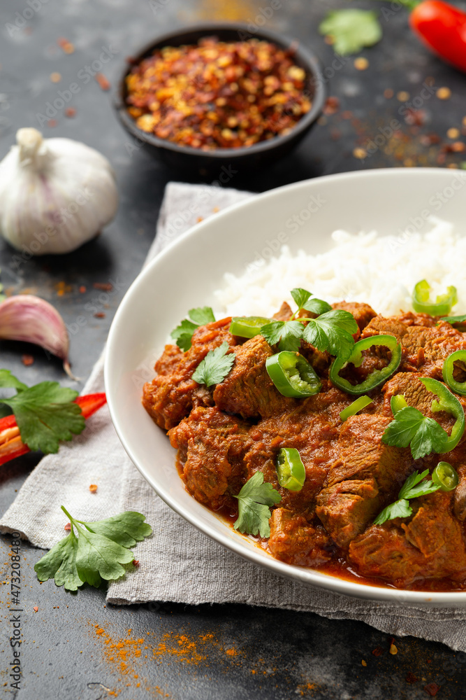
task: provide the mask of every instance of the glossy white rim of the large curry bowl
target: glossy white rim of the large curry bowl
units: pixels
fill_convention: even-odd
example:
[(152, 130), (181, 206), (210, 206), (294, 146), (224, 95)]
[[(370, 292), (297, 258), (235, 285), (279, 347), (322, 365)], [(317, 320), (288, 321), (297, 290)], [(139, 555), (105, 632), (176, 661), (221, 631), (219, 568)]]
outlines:
[[(416, 168), (415, 170), (403, 167), (379, 168), (373, 170), (365, 169), (356, 172), (353, 171), (320, 176), (318, 178), (307, 179), (295, 183), (290, 183), (288, 185), (281, 186), (278, 188), (273, 188), (272, 190), (267, 190), (266, 192), (255, 195), (254, 197), (251, 197), (250, 199), (247, 199), (243, 202), (231, 204), (230, 206), (225, 207), (225, 209), (222, 209), (215, 215), (215, 221), (221, 223), (221, 220), (223, 218), (228, 217), (231, 211), (240, 208), (247, 209), (248, 207), (254, 207), (258, 200), (266, 201), (270, 197), (274, 197), (275, 193), (277, 192), (299, 188), (305, 189), (309, 185), (309, 183), (316, 183), (321, 180), (346, 181), (349, 179), (364, 179), (367, 176), (370, 176), (371, 178), (380, 178), (382, 180), (386, 176), (402, 177), (409, 179), (409, 177), (412, 177), (414, 173), (416, 173), (416, 176), (420, 177), (428, 177), (435, 174), (436, 176), (444, 177), (445, 179), (449, 178), (449, 181), (451, 181), (452, 177), (452, 174), (451, 172), (449, 172), (449, 170), (439, 169), (435, 167)], [(111, 348), (112, 346), (117, 346), (116, 337), (117, 333), (119, 332), (119, 320), (120, 317), (124, 314), (126, 306), (131, 303), (131, 297), (135, 292), (136, 288), (138, 287), (140, 281), (145, 279), (147, 276), (151, 276), (153, 274), (152, 269), (159, 265), (163, 258), (166, 258), (168, 255), (170, 255), (173, 248), (182, 246), (183, 242), (187, 238), (198, 235), (198, 232), (201, 232), (203, 228), (206, 228), (207, 225), (210, 224), (210, 221), (210, 218), (207, 218), (205, 221), (201, 221), (200, 223), (197, 223), (196, 225), (192, 226), (189, 230), (177, 237), (177, 239), (171, 241), (170, 244), (163, 248), (162, 251), (157, 253), (157, 255), (152, 260), (150, 260), (150, 262), (148, 262), (147, 265), (145, 265), (145, 267), (143, 267), (138, 276), (136, 276), (136, 279), (133, 281), (133, 283), (131, 283), (131, 286), (129, 286), (129, 289), (126, 291), (110, 326), (104, 364), (105, 391), (107, 392), (108, 408), (110, 411), (112, 423), (115, 427), (115, 431), (119, 437), (119, 440), (120, 442), (122, 442), (122, 445), (131, 461), (133, 461), (131, 458), (131, 445), (126, 441), (126, 437), (124, 435), (124, 426), (122, 425), (122, 423), (120, 423), (119, 420), (117, 400), (114, 396), (112, 381), (110, 381), (112, 374), (114, 374), (113, 365), (115, 364), (115, 353), (112, 354)], [(165, 491), (158, 485), (156, 486), (154, 484), (154, 479), (152, 479), (150, 474), (147, 474), (143, 465), (138, 464), (136, 461), (133, 461), (133, 464), (136, 466), (141, 475), (143, 475), (146, 481), (150, 484), (150, 486), (152, 486), (152, 489), (154, 489), (157, 495), (170, 508), (172, 508), (172, 510), (177, 512), (177, 514), (179, 514), (184, 520), (188, 521), (189, 524), (193, 525), (196, 529), (201, 531), (203, 534), (207, 535), (210, 539), (214, 540), (214, 542), (218, 542), (223, 547), (226, 547), (226, 549), (229, 549), (231, 552), (239, 554), (244, 559), (247, 559), (248, 561), (254, 563), (256, 566), (261, 566), (262, 568), (265, 568), (266, 570), (275, 573), (281, 577), (291, 578), (294, 581), (298, 581), (310, 587), (324, 589), (329, 594), (342, 594), (351, 598), (363, 598), (367, 601), (374, 601), (375, 603), (392, 603), (393, 605), (407, 607), (417, 605), (421, 608), (432, 608), (436, 605), (437, 607), (442, 608), (449, 606), (451, 607), (455, 605), (466, 605), (466, 591), (410, 591), (407, 589), (397, 589), (395, 587), (392, 587), (390, 584), (382, 586), (377, 584), (370, 585), (363, 582), (357, 583), (353, 580), (347, 580), (330, 574), (322, 575), (321, 577), (317, 576), (310, 580), (309, 575), (312, 575), (312, 573), (319, 574), (319, 570), (312, 569), (311, 567), (300, 567), (291, 564), (286, 564), (282, 561), (279, 561), (278, 559), (275, 559), (271, 555), (265, 558), (261, 556), (259, 552), (256, 553), (253, 549), (248, 549), (247, 547), (244, 547), (244, 545), (242, 545), (242, 536), (240, 535), (240, 533), (238, 533), (238, 539), (235, 538), (233, 540), (227, 538), (226, 535), (224, 535), (224, 533), (222, 533), (221, 531), (210, 530), (209, 526), (204, 524), (203, 521), (196, 516), (196, 513), (184, 511), (183, 507), (177, 503), (176, 498), (174, 498), (170, 493), (168, 493), (168, 491)], [(199, 505), (202, 506), (202, 504)]]

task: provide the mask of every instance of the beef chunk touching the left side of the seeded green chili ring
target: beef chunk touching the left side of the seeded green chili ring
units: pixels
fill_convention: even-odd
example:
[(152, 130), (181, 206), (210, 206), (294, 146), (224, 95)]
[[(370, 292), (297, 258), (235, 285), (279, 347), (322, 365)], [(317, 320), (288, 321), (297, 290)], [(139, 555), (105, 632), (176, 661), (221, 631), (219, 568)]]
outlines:
[(267, 374), (265, 360), (273, 352), (262, 335), (254, 336), (234, 351), (236, 360), (231, 372), (214, 391), (219, 409), (243, 418), (265, 418), (296, 404), (296, 399), (279, 393)]

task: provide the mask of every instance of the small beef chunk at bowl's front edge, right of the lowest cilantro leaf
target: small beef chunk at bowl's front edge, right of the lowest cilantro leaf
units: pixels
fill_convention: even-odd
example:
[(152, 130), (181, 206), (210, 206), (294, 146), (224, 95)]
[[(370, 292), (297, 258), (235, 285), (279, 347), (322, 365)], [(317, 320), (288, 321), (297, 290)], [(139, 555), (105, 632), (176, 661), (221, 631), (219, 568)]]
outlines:
[(323, 527), (310, 524), (286, 508), (272, 511), (268, 546), (277, 559), (297, 566), (319, 566), (332, 556), (332, 545)]

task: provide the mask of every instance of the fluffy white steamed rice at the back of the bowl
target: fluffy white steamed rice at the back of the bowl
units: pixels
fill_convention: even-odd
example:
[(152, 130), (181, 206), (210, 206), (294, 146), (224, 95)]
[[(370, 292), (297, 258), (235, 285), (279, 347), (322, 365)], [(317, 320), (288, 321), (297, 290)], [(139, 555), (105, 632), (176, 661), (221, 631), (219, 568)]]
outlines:
[[(379, 314), (412, 310), (416, 282), (426, 279), (432, 295), (458, 290), (454, 314), (466, 313), (466, 237), (435, 217), (426, 234), (378, 237), (377, 232), (332, 234), (333, 248), (320, 255), (283, 246), (280, 255), (251, 265), (241, 276), (224, 275), (224, 287), (214, 294), (226, 316), (270, 316), (290, 290), (303, 287), (327, 302), (367, 302)], [(217, 309), (216, 309), (217, 310)], [(218, 316), (217, 316), (218, 317)]]

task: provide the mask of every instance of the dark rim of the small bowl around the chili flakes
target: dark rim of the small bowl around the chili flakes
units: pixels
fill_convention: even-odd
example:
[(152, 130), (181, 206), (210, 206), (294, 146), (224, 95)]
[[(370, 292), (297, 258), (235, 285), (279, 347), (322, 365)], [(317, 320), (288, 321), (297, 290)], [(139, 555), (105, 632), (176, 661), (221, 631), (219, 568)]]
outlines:
[[(307, 82), (309, 83), (309, 81), (312, 80), (314, 96), (312, 97), (312, 107), (310, 111), (300, 118), (300, 120), (288, 134), (284, 134), (284, 136), (278, 136), (273, 139), (268, 139), (266, 141), (259, 141), (259, 143), (253, 144), (252, 146), (242, 146), (238, 148), (214, 148), (212, 151), (202, 151), (200, 148), (180, 146), (179, 144), (175, 144), (175, 142), (169, 141), (168, 139), (161, 139), (154, 136), (154, 134), (143, 132), (143, 130), (140, 130), (136, 126), (136, 122), (129, 115), (127, 106), (124, 102), (124, 94), (126, 90), (125, 79), (131, 70), (131, 66), (139, 63), (141, 59), (150, 54), (150, 52), (152, 52), (154, 49), (159, 48), (159, 46), (169, 45), (170, 41), (177, 41), (177, 37), (180, 37), (183, 34), (200, 34), (198, 38), (201, 38), (201, 36), (209, 36), (215, 31), (243, 32), (248, 35), (248, 38), (262, 38), (266, 41), (277, 44), (280, 48), (286, 48), (293, 43), (296, 43), (296, 55), (306, 66), (305, 70), (307, 73)], [(182, 43), (179, 45), (182, 45)], [(200, 22), (196, 23), (195, 25), (178, 27), (177, 29), (173, 29), (172, 31), (168, 31), (165, 34), (161, 34), (160, 36), (154, 38), (152, 41), (150, 41), (150, 43), (146, 43), (143, 48), (138, 48), (135, 52), (130, 52), (130, 56), (130, 60), (128, 58), (125, 59), (124, 67), (119, 73), (119, 79), (112, 96), (112, 104), (117, 112), (119, 120), (122, 122), (126, 130), (128, 130), (133, 137), (138, 139), (138, 141), (143, 141), (143, 143), (149, 144), (150, 146), (155, 146), (156, 148), (166, 148), (168, 151), (173, 151), (174, 153), (189, 155), (193, 158), (212, 158), (214, 160), (231, 158), (231, 160), (236, 160), (237, 158), (243, 158), (246, 155), (263, 153), (263, 151), (271, 151), (273, 148), (287, 144), (290, 141), (293, 142), (300, 134), (303, 134), (303, 132), (305, 132), (314, 123), (314, 121), (319, 117), (319, 114), (323, 109), (323, 105), (325, 104), (325, 80), (321, 71), (319, 58), (316, 56), (316, 54), (307, 49), (303, 43), (286, 34), (279, 34), (276, 31), (262, 28), (252, 32), (249, 31), (248, 25), (243, 22)]]

